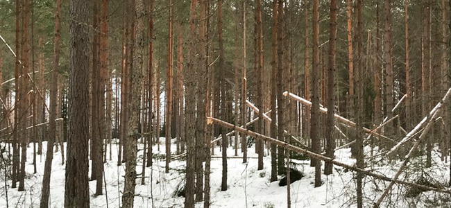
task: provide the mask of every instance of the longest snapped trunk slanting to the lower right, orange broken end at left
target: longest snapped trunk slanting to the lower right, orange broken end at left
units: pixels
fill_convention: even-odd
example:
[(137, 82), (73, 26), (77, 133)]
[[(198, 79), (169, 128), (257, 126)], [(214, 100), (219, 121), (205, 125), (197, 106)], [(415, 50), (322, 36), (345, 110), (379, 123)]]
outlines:
[(285, 148), (287, 150), (292, 150), (292, 151), (294, 151), (296, 153), (308, 155), (309, 157), (316, 158), (316, 159), (321, 159), (321, 160), (324, 160), (325, 162), (330, 162), (330, 163), (332, 163), (334, 165), (341, 166), (343, 168), (348, 168), (351, 171), (357, 171), (357, 172), (360, 172), (360, 173), (364, 173), (365, 175), (369, 175), (371, 177), (375, 177), (375, 178), (380, 179), (380, 180), (385, 180), (385, 181), (389, 181), (389, 182), (395, 182), (395, 183), (403, 184), (403, 185), (406, 185), (406, 186), (416, 187), (418, 189), (425, 189), (425, 190), (429, 190), (429, 191), (437, 191), (437, 192), (441, 192), (441, 193), (449, 193), (449, 194), (451, 194), (451, 191), (448, 190), (448, 189), (438, 189), (436, 187), (427, 187), (427, 186), (423, 186), (423, 185), (419, 185), (419, 184), (414, 184), (414, 183), (411, 183), (411, 182), (405, 182), (405, 181), (402, 181), (402, 180), (393, 180), (393, 179), (391, 179), (389, 177), (386, 177), (384, 175), (379, 175), (379, 174), (376, 174), (376, 173), (372, 173), (371, 171), (366, 171), (364, 169), (357, 168), (355, 166), (351, 166), (351, 165), (348, 165), (348, 164), (344, 164), (342, 162), (338, 162), (338, 161), (336, 161), (336, 160), (334, 160), (334, 159), (332, 159), (330, 157), (325, 157), (323, 155), (318, 155), (316, 153), (310, 152), (309, 150), (305, 150), (303, 148), (298, 148), (297, 146), (292, 146), (291, 144), (287, 144), (287, 143), (285, 143), (283, 141), (279, 141), (278, 139), (273, 139), (271, 137), (267, 137), (265, 135), (261, 135), (261, 134), (256, 133), (256, 132), (253, 132), (253, 131), (250, 131), (250, 130), (246, 130), (244, 128), (239, 128), (238, 126), (233, 125), (232, 123), (228, 123), (226, 121), (221, 121), (219, 119), (214, 119), (212, 117), (207, 117), (207, 124), (211, 125), (212, 123), (215, 123), (217, 125), (222, 125), (223, 127), (230, 128), (232, 130), (244, 133), (244, 134), (249, 135), (251, 137), (255, 137), (255, 139), (262, 139), (263, 141), (267, 141), (267, 142), (269, 142), (271, 144), (276, 144), (276, 145), (281, 146), (281, 147), (283, 147), (283, 148)]

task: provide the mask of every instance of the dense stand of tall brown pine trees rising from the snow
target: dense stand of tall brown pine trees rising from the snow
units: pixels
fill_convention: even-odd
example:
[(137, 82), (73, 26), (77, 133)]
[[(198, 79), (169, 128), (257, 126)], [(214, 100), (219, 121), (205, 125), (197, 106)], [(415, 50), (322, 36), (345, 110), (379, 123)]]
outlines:
[[(228, 189), (228, 148), (247, 163), (255, 142), (259, 170), (269, 153), (271, 182), (299, 156), (232, 134), (207, 116), (329, 158), (338, 146), (350, 146), (364, 169), (364, 146), (371, 156), (376, 147), (390, 150), (451, 87), (450, 6), (448, 0), (0, 0), (0, 141), (11, 155), (11, 187), (26, 189), (27, 146), (33, 143), (35, 165), (42, 141), (41, 207), (49, 205), (53, 151), (64, 151), (64, 141), (65, 207), (89, 207), (88, 180), (96, 180), (94, 195), (103, 194), (114, 137), (117, 165), (126, 166), (123, 207), (133, 207), (138, 145), (145, 184), (160, 137), (166, 173), (171, 159), (186, 155), (185, 207), (210, 205), (217, 146), (221, 191)], [(426, 167), (434, 148), (443, 160), (450, 153), (450, 113), (443, 107), (441, 122), (420, 137)], [(401, 148), (398, 156), (405, 155), (411, 153)], [(310, 162), (320, 187), (321, 158)], [(325, 175), (332, 164), (325, 162)], [(357, 173), (358, 207), (365, 203), (363, 178)]]

